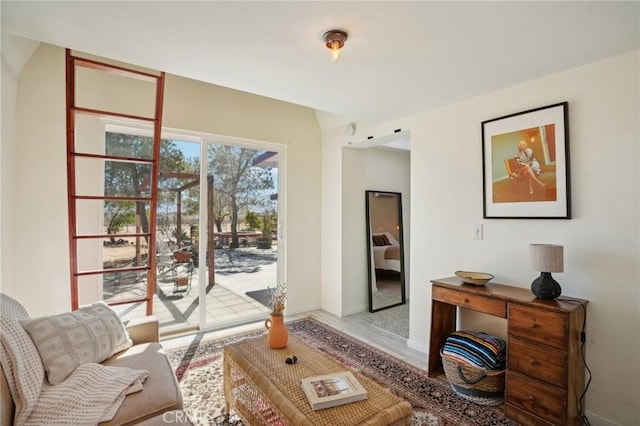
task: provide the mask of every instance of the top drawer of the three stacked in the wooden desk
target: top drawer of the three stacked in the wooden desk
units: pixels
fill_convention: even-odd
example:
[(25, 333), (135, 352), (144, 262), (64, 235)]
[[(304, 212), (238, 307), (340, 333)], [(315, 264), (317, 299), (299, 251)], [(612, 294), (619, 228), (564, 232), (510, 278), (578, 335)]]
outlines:
[(569, 340), (569, 326), (566, 315), (532, 308), (518, 303), (509, 304), (510, 336), (557, 349), (566, 349)]

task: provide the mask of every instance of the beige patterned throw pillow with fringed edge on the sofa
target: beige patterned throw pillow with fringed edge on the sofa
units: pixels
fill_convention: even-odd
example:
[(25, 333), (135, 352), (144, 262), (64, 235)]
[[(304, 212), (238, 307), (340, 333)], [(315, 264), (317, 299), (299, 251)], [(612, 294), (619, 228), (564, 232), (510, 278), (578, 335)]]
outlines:
[(52, 385), (82, 364), (102, 362), (133, 345), (118, 315), (104, 302), (20, 323), (38, 348)]

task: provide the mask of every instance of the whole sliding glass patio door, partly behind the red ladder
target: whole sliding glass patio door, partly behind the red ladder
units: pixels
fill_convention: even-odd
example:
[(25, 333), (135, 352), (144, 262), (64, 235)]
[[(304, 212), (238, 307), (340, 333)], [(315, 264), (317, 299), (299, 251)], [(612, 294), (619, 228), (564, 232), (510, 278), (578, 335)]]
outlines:
[[(146, 146), (144, 130), (118, 127), (107, 142), (130, 140)], [(215, 329), (266, 318), (269, 288), (282, 278), (280, 162), (284, 149), (273, 144), (241, 144), (200, 135), (163, 134), (160, 144), (156, 227), (149, 230), (149, 206), (124, 209), (105, 204), (107, 232), (131, 238), (105, 244), (105, 262), (135, 262), (155, 256), (153, 314), (162, 334)], [(131, 166), (105, 171), (106, 182), (136, 172)], [(146, 177), (145, 177), (146, 176)], [(135, 180), (149, 191), (150, 173)], [(155, 232), (155, 247), (140, 237)], [(281, 233), (280, 233), (281, 236)], [(145, 277), (105, 279), (104, 298), (113, 302), (147, 287)], [(143, 316), (143, 304), (122, 307), (123, 318)]]

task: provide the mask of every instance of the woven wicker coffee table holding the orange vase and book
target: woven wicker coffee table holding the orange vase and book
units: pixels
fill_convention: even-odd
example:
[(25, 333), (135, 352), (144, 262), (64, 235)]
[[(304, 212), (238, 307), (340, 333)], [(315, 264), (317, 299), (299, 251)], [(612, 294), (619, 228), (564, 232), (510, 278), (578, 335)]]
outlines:
[[(286, 358), (295, 355), (295, 364)], [(303, 377), (349, 370), (289, 335), (287, 347), (271, 349), (266, 336), (224, 348), (225, 413), (233, 409), (247, 425), (410, 425), (411, 404), (352, 371), (367, 389), (364, 401), (313, 411), (302, 391)]]

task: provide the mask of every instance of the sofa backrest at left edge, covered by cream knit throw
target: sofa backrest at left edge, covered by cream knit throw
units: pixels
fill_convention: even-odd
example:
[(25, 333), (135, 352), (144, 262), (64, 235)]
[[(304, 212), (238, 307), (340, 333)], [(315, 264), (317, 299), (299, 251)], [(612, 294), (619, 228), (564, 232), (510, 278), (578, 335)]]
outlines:
[[(29, 417), (44, 384), (44, 368), (38, 350), (18, 322), (28, 318), (29, 314), (20, 303), (0, 294), (0, 361), (15, 401), (16, 424), (24, 423)], [(3, 420), (5, 410), (7, 407), (3, 405)]]

